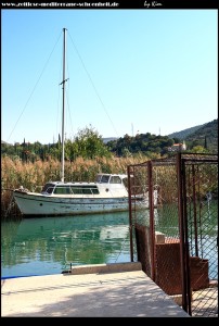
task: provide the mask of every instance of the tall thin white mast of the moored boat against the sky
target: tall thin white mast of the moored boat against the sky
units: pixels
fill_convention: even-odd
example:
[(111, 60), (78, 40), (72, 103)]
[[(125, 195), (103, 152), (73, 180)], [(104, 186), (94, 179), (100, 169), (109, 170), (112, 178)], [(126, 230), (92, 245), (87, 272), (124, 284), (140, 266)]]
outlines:
[(63, 111), (62, 111), (62, 166), (61, 166), (61, 181), (64, 183), (64, 174), (65, 174), (65, 167), (64, 167), (64, 163), (65, 163), (65, 82), (67, 82), (67, 79), (65, 79), (65, 60), (66, 60), (66, 28), (63, 28), (63, 82), (61, 83), (61, 85), (63, 85)]

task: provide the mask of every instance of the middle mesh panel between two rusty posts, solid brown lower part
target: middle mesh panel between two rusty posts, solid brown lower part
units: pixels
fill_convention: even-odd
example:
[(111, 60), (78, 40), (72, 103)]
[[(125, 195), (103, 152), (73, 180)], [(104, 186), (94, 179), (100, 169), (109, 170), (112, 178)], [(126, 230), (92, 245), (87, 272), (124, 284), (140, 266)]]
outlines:
[(159, 186), (155, 221), (155, 283), (168, 294), (181, 294), (180, 231), (176, 161), (153, 162)]

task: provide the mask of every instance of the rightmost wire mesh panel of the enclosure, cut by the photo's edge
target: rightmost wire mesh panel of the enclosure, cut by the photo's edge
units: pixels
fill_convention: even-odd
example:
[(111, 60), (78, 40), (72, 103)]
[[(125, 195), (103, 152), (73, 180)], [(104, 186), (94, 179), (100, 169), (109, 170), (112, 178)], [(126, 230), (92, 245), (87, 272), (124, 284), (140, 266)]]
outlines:
[(182, 158), (192, 316), (218, 316), (218, 161)]

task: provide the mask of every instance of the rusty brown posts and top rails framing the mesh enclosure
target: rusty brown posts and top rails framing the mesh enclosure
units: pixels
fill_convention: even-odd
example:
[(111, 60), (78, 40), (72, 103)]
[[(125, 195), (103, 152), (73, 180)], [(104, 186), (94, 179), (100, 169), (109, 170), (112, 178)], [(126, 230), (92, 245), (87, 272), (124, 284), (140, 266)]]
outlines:
[[(153, 202), (153, 189), (154, 189), (154, 167), (156, 166), (176, 166), (176, 180), (177, 180), (177, 201), (178, 201), (178, 220), (179, 220), (179, 238), (180, 238), (180, 265), (181, 265), (181, 289), (182, 289), (182, 309), (192, 315), (192, 287), (191, 287), (191, 269), (190, 269), (190, 252), (189, 252), (189, 226), (188, 226), (188, 211), (186, 211), (186, 184), (189, 183), (186, 178), (186, 166), (195, 165), (202, 162), (202, 164), (217, 164), (218, 166), (218, 155), (217, 154), (182, 154), (177, 153), (176, 158), (166, 159), (166, 160), (154, 160), (146, 161), (141, 164), (129, 165), (128, 171), (128, 187), (129, 187), (129, 227), (130, 227), (130, 253), (131, 261), (134, 260), (133, 255), (133, 234), (137, 228), (136, 224), (136, 205), (133, 198), (136, 196), (131, 186), (131, 175), (134, 176), (138, 174), (138, 168), (143, 170), (143, 183), (149, 187), (149, 200), (150, 200), (150, 227), (149, 227), (149, 239), (151, 246), (151, 269), (149, 271), (149, 276), (156, 283), (156, 273), (155, 273), (155, 261), (156, 261), (156, 249), (155, 249), (155, 225), (154, 225), (154, 202)], [(132, 198), (131, 198), (132, 197)], [(196, 206), (195, 206), (196, 208)], [(138, 239), (136, 239), (138, 240)], [(138, 244), (138, 243), (137, 243)], [(137, 246), (138, 247), (138, 246)], [(138, 260), (140, 258), (139, 252)], [(140, 260), (141, 261), (141, 260)], [(143, 268), (142, 268), (143, 269)]]

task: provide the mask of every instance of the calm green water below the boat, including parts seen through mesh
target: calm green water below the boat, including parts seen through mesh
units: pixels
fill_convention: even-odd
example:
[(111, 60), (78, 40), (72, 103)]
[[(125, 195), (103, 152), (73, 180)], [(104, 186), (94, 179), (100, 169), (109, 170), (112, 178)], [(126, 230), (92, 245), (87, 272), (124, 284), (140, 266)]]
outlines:
[[(217, 278), (218, 203), (204, 211), (209, 273)], [(149, 211), (141, 216), (147, 224)], [(155, 229), (179, 236), (177, 208), (155, 211)], [(211, 247), (210, 247), (211, 246)], [(130, 262), (129, 213), (40, 217), (1, 223), (1, 277), (61, 274), (72, 265)]]

